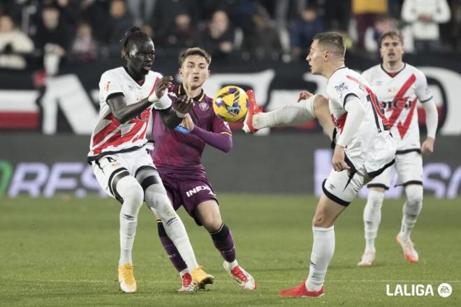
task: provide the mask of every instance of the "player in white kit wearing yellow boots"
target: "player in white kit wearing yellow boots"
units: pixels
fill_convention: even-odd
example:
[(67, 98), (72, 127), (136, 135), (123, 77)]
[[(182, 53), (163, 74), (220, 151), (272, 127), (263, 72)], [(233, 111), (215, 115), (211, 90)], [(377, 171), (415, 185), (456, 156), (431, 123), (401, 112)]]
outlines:
[(145, 200), (147, 207), (162, 220), (168, 237), (192, 271), (193, 284), (212, 283), (196, 262), (182, 220), (177, 216), (163, 187), (147, 148), (146, 130), (152, 107), (161, 113), (168, 128), (175, 128), (193, 103), (180, 98), (171, 107), (167, 88), (173, 77), (151, 71), (154, 43), (140, 28), (129, 29), (122, 40), (126, 67), (103, 73), (99, 82), (100, 117), (92, 133), (88, 161), (105, 191), (122, 203), (119, 214), (120, 258), (118, 279), (124, 292), (136, 292), (131, 250), (136, 234), (138, 212)]

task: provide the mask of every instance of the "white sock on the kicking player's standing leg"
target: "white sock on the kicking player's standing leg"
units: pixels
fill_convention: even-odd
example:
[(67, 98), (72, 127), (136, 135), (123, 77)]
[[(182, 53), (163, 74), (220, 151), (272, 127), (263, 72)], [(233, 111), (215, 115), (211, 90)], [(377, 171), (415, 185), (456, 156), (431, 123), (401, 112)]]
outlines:
[(305, 282), (308, 291), (319, 291), (323, 286), (328, 264), (335, 253), (335, 226), (312, 227), (314, 243), (312, 244), (309, 277)]

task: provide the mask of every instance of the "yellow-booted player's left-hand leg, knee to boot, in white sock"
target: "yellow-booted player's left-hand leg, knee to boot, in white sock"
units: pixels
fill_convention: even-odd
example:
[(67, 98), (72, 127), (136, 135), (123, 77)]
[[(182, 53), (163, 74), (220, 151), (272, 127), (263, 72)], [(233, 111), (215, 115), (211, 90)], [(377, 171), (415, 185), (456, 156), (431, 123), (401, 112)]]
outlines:
[[(128, 174), (128, 172), (126, 172)], [(114, 177), (112, 182), (118, 180), (116, 191), (123, 199), (120, 210), (120, 259), (118, 267), (118, 280), (123, 292), (136, 292), (136, 280), (133, 273), (133, 260), (131, 250), (136, 235), (138, 212), (142, 206), (143, 191), (134, 177)]]

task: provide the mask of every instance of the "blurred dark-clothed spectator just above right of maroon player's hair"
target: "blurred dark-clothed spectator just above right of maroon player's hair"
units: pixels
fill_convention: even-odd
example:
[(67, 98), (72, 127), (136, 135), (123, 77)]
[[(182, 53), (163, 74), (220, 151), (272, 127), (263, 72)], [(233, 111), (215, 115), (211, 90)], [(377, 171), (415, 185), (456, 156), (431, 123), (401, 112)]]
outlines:
[(200, 34), (200, 45), (214, 59), (228, 56), (234, 50), (235, 29), (224, 10), (217, 10)]

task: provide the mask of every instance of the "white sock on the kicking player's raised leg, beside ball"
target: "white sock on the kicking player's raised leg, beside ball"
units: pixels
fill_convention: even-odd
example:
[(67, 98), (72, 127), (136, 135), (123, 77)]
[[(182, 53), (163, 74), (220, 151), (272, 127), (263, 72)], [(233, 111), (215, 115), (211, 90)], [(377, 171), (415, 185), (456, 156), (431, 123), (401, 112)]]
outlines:
[(256, 129), (276, 126), (296, 126), (315, 118), (314, 114), (315, 95), (299, 103), (286, 105), (280, 109), (255, 114), (253, 126)]

